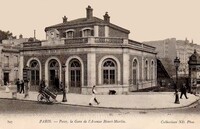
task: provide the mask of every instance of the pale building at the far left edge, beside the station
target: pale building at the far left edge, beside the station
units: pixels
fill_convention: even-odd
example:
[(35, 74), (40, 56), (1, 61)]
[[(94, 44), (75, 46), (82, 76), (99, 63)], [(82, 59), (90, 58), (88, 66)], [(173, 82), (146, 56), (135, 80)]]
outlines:
[(27, 42), (28, 38), (3, 40), (0, 44), (0, 84), (7, 83), (14, 84), (15, 80), (19, 78), (19, 58), (20, 58), (20, 44)]

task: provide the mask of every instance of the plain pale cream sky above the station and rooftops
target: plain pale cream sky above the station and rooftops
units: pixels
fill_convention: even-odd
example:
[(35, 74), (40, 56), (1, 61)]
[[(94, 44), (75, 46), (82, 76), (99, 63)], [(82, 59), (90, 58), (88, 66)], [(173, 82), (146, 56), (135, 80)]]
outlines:
[(176, 38), (200, 44), (199, 0), (0, 0), (0, 30), (17, 37), (45, 39), (45, 27), (86, 17), (86, 7), (130, 30), (139, 42)]

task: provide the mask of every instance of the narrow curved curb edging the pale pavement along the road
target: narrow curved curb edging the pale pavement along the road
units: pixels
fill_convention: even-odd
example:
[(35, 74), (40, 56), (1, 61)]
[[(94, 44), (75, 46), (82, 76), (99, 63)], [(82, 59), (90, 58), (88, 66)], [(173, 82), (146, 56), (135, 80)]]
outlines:
[[(36, 100), (26, 100), (26, 99), (13, 99), (13, 98), (0, 98), (0, 99), (8, 99), (8, 100), (17, 100), (17, 101), (31, 101), (31, 102), (37, 102)], [(181, 109), (181, 108), (188, 108), (188, 107), (194, 107), (196, 106), (197, 102), (200, 100), (198, 98), (196, 101), (179, 107), (166, 107), (166, 108), (123, 108), (123, 107), (102, 107), (102, 106), (90, 106), (90, 105), (79, 105), (79, 104), (68, 104), (66, 102), (57, 102), (53, 104), (60, 104), (60, 105), (69, 105), (69, 106), (76, 106), (76, 107), (91, 107), (91, 108), (101, 108), (101, 109), (118, 109), (118, 110), (169, 110), (169, 109)], [(39, 103), (39, 102), (37, 102)], [(43, 103), (41, 103), (43, 104)], [(44, 103), (45, 104), (45, 103)], [(46, 103), (47, 104), (47, 103)]]

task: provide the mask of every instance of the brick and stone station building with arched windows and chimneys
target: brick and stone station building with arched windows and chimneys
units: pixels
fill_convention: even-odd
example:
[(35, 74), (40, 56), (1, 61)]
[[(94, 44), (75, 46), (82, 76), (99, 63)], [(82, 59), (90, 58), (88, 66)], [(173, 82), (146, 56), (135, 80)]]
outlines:
[(24, 42), (20, 48), (19, 78), (30, 68), (31, 90), (45, 80), (50, 89), (64, 82), (69, 93), (90, 94), (93, 85), (99, 93), (116, 90), (121, 94), (156, 86), (155, 47), (130, 40), (130, 31), (93, 16), (45, 28), (45, 41)]

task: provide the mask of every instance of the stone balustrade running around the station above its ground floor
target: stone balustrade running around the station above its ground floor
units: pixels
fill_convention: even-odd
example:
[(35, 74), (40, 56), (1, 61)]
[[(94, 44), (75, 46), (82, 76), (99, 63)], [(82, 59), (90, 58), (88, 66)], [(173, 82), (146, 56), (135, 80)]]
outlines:
[(67, 45), (67, 44), (119, 44), (128, 45), (136, 49), (153, 52), (155, 47), (146, 45), (134, 40), (127, 38), (113, 38), (113, 37), (79, 37), (71, 39), (59, 39), (54, 41), (37, 41), (37, 42), (25, 42), (23, 47), (39, 47), (39, 46), (56, 46), (56, 45)]

